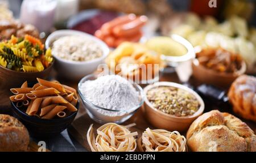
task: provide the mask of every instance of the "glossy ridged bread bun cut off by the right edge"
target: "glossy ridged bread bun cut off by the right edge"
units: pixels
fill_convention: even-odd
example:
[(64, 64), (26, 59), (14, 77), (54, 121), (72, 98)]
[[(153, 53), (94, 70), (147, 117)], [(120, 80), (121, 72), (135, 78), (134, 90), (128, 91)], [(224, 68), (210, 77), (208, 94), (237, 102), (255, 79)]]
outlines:
[(242, 118), (256, 122), (256, 78), (242, 75), (229, 89), (229, 101), (234, 113)]

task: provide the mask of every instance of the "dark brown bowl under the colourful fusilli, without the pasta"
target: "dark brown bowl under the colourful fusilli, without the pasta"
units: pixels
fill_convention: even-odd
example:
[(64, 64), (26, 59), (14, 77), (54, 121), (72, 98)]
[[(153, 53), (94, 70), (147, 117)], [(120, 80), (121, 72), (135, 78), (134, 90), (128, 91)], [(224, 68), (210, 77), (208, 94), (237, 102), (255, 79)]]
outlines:
[(53, 64), (54, 61), (48, 68), (41, 72), (17, 72), (0, 66), (0, 90), (4, 91), (10, 88), (20, 87), (24, 81), (29, 83), (35, 82), (36, 78), (46, 79), (52, 70)]

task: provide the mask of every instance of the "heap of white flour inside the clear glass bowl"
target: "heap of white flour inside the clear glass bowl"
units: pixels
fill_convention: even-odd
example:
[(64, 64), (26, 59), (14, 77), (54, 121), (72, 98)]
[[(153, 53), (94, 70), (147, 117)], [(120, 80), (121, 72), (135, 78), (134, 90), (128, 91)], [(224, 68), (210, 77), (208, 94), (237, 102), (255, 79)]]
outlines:
[(113, 113), (97, 109), (99, 113), (111, 117), (121, 116), (128, 110), (138, 106), (141, 102), (139, 93), (129, 81), (118, 75), (105, 75), (96, 80), (85, 81), (81, 85), (81, 93), (94, 105), (111, 110), (124, 110), (125, 112)]

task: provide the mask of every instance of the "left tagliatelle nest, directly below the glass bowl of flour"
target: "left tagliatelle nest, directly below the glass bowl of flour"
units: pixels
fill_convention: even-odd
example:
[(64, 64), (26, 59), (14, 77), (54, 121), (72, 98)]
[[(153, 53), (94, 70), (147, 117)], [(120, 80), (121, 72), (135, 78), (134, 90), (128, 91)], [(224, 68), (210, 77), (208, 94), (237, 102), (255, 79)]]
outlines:
[[(115, 123), (106, 123), (97, 129), (95, 139), (93, 133), (93, 124), (90, 125), (87, 132), (87, 141), (92, 152), (134, 152), (137, 144), (133, 136), (137, 132), (131, 132), (129, 126), (121, 126)], [(133, 124), (132, 124), (133, 126)]]

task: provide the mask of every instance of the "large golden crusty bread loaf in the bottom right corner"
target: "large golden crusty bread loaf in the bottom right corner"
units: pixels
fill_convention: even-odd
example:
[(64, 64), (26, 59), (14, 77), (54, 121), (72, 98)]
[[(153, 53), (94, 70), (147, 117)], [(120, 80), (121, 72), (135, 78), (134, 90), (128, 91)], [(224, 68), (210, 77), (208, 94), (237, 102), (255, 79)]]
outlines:
[(191, 151), (256, 151), (256, 136), (246, 123), (229, 113), (212, 110), (197, 118), (187, 132)]

